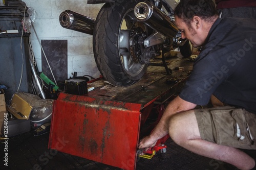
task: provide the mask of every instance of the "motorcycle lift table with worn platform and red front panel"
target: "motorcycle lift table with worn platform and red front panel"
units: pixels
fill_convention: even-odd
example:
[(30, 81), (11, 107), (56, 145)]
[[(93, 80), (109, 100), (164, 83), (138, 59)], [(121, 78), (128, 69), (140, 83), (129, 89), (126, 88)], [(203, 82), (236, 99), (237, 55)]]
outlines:
[(179, 56), (166, 62), (171, 75), (164, 67), (149, 66), (142, 79), (129, 87), (99, 79), (88, 83), (95, 89), (87, 94), (60, 93), (53, 106), (49, 149), (135, 169), (139, 139), (156, 126), (193, 65)]

